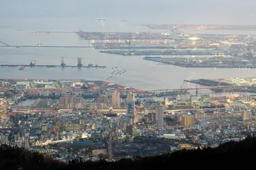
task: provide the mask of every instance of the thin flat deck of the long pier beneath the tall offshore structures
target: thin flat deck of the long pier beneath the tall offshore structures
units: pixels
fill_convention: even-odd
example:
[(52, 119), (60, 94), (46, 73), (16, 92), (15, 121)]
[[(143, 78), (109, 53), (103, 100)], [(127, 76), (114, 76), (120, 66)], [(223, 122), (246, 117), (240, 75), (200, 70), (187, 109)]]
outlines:
[(57, 68), (57, 67), (61, 67), (61, 68), (66, 68), (66, 67), (70, 67), (70, 68), (106, 68), (106, 66), (102, 66), (102, 65), (93, 65), (93, 66), (88, 66), (88, 65), (81, 65), (81, 66), (77, 66), (77, 65), (65, 65), (65, 66), (61, 66), (61, 65), (0, 65), (0, 67), (46, 67), (46, 68)]

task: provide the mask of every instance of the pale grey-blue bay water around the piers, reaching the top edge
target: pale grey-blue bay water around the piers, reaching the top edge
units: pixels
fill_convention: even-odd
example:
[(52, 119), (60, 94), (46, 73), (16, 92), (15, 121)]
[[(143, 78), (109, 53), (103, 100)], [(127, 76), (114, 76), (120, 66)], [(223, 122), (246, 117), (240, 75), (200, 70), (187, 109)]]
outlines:
[[(89, 42), (74, 33), (33, 33), (33, 31), (151, 31), (139, 24), (256, 24), (254, 1), (7, 1), (0, 5), (0, 41), (11, 45), (88, 46)], [(186, 5), (184, 5), (186, 3)], [(234, 3), (234, 5), (230, 5)], [(124, 7), (125, 5), (125, 7)], [(214, 10), (213, 10), (214, 9)], [(239, 14), (238, 14), (239, 13)], [(238, 16), (239, 15), (239, 16)], [(104, 17), (104, 26), (95, 18)], [(129, 20), (121, 26), (120, 20)], [(164, 31), (158, 31), (164, 32)], [(168, 31), (165, 31), (168, 32)], [(195, 31), (200, 33), (199, 31)], [(210, 32), (212, 33), (212, 31)], [(217, 31), (214, 33), (227, 33)], [(255, 34), (255, 31), (238, 31), (238, 34)], [(98, 63), (106, 69), (71, 68), (1, 68), (0, 78), (48, 78), (106, 80), (112, 67), (126, 69), (109, 82), (134, 88), (180, 88), (183, 80), (198, 78), (253, 77), (255, 69), (195, 69), (172, 65), (157, 65), (144, 61), (143, 56), (116, 56), (101, 54), (94, 49), (68, 48), (1, 48), (0, 63), (28, 64), (35, 60), (40, 65), (59, 65), (61, 56), (68, 65), (76, 65), (76, 58), (83, 57), (84, 65)]]

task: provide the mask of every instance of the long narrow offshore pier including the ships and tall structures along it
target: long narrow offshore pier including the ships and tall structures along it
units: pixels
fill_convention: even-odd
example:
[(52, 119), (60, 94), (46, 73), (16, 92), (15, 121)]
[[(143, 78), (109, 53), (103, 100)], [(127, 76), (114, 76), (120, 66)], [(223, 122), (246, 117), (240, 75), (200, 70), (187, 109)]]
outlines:
[(61, 67), (61, 68), (66, 68), (66, 67), (70, 67), (70, 68), (106, 68), (106, 66), (102, 66), (102, 65), (93, 65), (91, 63), (89, 63), (89, 65), (83, 65), (82, 63), (82, 58), (77, 58), (77, 65), (66, 65), (66, 63), (63, 60), (63, 57), (61, 57), (61, 64), (60, 65), (36, 65), (35, 61), (31, 61), (29, 63), (29, 65), (1, 65), (0, 67), (19, 67), (18, 70), (23, 70), (25, 69), (25, 67), (47, 67), (47, 68), (57, 68), (57, 67)]

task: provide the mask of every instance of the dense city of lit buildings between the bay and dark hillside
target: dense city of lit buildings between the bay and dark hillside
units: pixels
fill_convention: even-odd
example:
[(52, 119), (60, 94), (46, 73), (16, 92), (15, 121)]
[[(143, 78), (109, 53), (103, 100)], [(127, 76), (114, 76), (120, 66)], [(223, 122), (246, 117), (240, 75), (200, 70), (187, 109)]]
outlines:
[(253, 89), (255, 78), (191, 82), (215, 92), (205, 94), (203, 86), (149, 91), (101, 81), (0, 80), (0, 144), (67, 163), (215, 148), (255, 134), (256, 95), (236, 95)]

